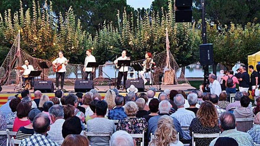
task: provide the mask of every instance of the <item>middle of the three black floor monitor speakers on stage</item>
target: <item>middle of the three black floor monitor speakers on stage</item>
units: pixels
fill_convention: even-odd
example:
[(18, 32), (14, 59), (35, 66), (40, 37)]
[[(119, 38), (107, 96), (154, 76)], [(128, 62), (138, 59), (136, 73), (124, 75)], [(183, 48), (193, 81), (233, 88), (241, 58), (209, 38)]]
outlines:
[(74, 90), (75, 92), (87, 92), (90, 91), (93, 88), (93, 81), (92, 80), (77, 80), (74, 84)]

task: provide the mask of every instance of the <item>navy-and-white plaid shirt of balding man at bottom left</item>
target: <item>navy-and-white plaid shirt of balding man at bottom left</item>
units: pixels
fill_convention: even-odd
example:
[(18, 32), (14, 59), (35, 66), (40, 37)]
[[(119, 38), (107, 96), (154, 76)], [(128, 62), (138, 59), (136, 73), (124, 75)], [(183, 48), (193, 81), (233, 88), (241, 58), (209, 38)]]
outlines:
[(19, 146), (59, 146), (56, 142), (51, 141), (45, 135), (35, 133), (21, 141)]

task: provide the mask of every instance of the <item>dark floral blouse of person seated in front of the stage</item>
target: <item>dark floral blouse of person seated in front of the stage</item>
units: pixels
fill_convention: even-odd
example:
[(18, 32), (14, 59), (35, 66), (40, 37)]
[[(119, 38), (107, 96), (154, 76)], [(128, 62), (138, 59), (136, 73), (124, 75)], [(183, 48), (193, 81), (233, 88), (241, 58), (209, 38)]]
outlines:
[[(148, 124), (144, 118), (124, 118), (118, 121), (116, 130), (125, 130), (129, 134), (142, 134), (147, 132)], [(135, 138), (136, 145), (140, 146), (142, 138)]]

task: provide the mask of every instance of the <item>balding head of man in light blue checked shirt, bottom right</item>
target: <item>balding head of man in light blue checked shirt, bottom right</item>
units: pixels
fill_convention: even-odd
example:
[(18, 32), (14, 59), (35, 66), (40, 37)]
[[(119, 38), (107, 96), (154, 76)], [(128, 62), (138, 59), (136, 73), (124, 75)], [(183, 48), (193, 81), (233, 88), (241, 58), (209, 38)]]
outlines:
[(220, 115), (221, 128), (223, 130), (235, 129), (235, 116), (229, 111), (225, 111)]

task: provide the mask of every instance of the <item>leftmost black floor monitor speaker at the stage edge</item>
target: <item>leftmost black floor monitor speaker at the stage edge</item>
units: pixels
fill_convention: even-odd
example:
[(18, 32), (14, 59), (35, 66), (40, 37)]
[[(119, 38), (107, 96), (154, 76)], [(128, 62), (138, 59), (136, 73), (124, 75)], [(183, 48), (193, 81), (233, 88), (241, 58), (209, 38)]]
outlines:
[(51, 93), (54, 91), (54, 85), (52, 81), (34, 81), (34, 91), (39, 90), (42, 93)]

